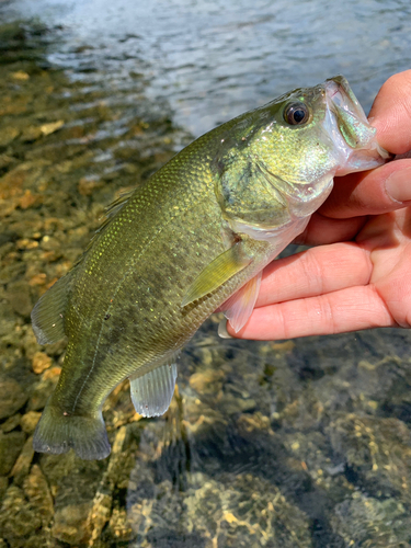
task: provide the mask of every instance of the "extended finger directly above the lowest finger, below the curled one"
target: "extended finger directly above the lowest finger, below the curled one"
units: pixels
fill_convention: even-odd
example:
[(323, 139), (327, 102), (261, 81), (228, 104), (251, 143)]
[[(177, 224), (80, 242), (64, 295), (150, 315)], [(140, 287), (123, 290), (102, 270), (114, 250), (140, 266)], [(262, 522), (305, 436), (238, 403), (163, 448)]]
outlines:
[(369, 252), (354, 243), (311, 248), (265, 267), (255, 306), (365, 285), (372, 272)]

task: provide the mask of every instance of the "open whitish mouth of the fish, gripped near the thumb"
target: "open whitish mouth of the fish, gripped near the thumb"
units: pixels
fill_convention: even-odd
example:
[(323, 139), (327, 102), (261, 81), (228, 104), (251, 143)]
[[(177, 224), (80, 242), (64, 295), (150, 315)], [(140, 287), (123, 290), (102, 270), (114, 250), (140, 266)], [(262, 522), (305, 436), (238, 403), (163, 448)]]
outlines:
[(324, 83), (326, 128), (334, 142), (339, 164), (335, 175), (364, 171), (385, 163), (390, 155), (378, 145), (376, 133), (343, 76)]

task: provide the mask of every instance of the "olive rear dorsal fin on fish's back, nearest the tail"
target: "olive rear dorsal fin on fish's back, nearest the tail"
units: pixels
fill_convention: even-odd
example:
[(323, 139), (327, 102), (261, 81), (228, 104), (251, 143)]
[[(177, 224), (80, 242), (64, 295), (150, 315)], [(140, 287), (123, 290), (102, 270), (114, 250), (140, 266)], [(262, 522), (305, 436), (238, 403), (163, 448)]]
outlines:
[(75, 270), (52, 285), (33, 308), (32, 326), (38, 344), (52, 344), (66, 334), (65, 312)]

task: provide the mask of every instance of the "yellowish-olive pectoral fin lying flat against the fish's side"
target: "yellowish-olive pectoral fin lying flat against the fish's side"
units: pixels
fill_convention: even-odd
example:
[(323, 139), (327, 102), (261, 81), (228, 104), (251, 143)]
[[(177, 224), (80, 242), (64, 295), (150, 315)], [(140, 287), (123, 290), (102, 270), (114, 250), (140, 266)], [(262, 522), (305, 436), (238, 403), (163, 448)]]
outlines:
[(194, 279), (184, 295), (181, 306), (184, 307), (216, 290), (235, 274), (246, 269), (251, 261), (252, 258), (244, 252), (242, 242), (235, 243), (212, 261)]

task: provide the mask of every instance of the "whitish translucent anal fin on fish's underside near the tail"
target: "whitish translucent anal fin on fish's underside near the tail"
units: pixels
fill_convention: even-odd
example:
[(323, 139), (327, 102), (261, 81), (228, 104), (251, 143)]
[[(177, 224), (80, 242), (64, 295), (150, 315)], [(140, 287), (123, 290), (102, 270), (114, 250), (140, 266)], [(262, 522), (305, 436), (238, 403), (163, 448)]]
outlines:
[(169, 409), (176, 379), (175, 363), (160, 365), (142, 376), (130, 375), (135, 410), (142, 416), (160, 416)]

